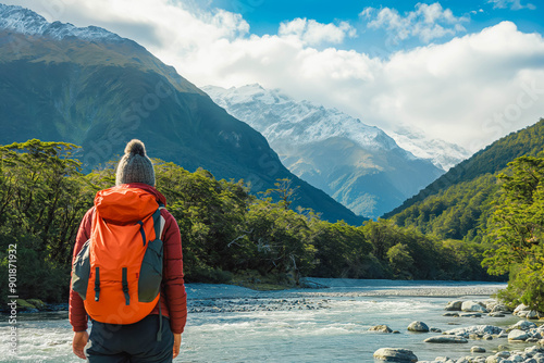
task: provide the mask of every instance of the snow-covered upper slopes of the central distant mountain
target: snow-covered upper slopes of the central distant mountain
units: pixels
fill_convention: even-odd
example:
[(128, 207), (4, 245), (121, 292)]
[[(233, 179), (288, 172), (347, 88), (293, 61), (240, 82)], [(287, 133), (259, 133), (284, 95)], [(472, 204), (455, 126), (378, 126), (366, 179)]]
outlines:
[[(336, 109), (309, 101), (297, 102), (279, 89), (260, 85), (224, 89), (202, 87), (215, 103), (259, 130), (269, 142), (289, 140), (297, 145), (343, 137), (367, 150), (398, 149), (395, 140), (375, 126), (368, 126)], [(413, 158), (413, 155), (409, 155)]]

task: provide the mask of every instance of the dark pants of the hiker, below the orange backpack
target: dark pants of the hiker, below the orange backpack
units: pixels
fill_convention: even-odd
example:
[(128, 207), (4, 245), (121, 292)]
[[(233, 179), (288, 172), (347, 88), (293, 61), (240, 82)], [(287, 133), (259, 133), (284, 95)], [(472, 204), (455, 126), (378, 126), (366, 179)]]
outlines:
[(149, 315), (128, 325), (92, 321), (85, 354), (90, 363), (172, 362), (174, 335), (170, 321), (162, 316), (162, 339), (157, 341), (159, 315)]

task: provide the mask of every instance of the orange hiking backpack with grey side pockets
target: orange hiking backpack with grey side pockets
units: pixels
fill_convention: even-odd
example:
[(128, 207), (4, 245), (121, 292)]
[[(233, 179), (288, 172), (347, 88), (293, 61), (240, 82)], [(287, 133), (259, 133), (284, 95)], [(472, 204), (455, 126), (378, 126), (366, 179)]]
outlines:
[(97, 193), (91, 236), (72, 268), (72, 288), (92, 320), (133, 324), (159, 302), (163, 208), (138, 188), (118, 186)]

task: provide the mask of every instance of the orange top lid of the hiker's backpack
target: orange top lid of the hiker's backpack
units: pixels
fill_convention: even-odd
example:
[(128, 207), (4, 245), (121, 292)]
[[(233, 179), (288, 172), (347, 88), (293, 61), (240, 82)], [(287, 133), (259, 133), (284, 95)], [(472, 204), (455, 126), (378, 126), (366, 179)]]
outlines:
[(123, 184), (100, 190), (95, 197), (95, 208), (102, 218), (114, 224), (136, 223), (153, 214), (159, 202), (166, 199), (156, 188), (141, 184)]

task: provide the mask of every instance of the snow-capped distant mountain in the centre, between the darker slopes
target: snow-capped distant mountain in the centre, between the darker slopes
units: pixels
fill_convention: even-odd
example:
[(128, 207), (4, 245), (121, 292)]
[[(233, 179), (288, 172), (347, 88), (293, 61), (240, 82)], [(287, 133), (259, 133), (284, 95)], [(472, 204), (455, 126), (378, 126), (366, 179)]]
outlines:
[(259, 85), (202, 90), (260, 132), (294, 174), (357, 214), (378, 217), (444, 172), (380, 128), (338, 110), (295, 101)]

